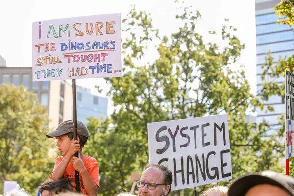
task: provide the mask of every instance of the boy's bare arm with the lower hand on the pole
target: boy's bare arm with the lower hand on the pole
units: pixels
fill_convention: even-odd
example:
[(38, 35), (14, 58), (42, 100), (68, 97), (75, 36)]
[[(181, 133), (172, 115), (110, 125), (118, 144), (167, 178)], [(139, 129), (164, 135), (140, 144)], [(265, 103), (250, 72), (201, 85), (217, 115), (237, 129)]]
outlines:
[(83, 179), (83, 184), (85, 186), (86, 192), (89, 196), (97, 196), (98, 187), (92, 180), (90, 174), (88, 173), (83, 161), (80, 158), (73, 157), (71, 160), (75, 170), (80, 172), (80, 176)]

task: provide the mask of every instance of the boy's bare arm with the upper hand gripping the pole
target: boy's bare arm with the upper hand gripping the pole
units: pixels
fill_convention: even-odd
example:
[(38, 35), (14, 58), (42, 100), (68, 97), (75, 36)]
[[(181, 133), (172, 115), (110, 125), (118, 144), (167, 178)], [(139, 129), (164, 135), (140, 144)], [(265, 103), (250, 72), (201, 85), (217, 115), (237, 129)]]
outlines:
[(58, 164), (58, 166), (55, 168), (54, 172), (52, 173), (51, 179), (57, 180), (63, 178), (64, 172), (69, 165), (69, 162), (71, 161), (74, 154), (80, 150), (80, 145), (77, 140), (74, 140), (71, 143), (71, 146), (69, 147), (68, 152), (63, 157), (62, 161)]

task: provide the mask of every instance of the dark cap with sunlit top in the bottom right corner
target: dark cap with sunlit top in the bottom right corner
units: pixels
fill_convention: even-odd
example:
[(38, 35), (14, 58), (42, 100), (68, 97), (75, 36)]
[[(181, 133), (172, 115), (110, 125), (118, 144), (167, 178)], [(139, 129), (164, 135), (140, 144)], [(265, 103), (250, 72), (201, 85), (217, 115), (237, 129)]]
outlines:
[(230, 186), (228, 196), (245, 196), (249, 189), (260, 184), (280, 187), (294, 196), (294, 178), (271, 170), (241, 176)]

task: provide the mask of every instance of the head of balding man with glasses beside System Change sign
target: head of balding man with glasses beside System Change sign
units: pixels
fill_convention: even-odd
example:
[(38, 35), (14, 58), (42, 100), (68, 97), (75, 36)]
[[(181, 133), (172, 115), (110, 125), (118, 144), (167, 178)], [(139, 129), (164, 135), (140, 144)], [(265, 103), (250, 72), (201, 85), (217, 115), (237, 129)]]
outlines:
[(139, 196), (167, 196), (172, 188), (172, 171), (164, 165), (147, 164), (136, 183)]

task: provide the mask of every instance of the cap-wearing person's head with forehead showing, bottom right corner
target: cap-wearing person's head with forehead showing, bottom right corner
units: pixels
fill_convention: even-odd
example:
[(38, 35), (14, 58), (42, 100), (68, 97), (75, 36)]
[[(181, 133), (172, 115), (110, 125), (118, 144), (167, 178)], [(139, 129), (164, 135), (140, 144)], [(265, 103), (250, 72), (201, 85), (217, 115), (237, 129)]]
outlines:
[(294, 196), (294, 179), (270, 170), (246, 174), (230, 186), (228, 196)]

